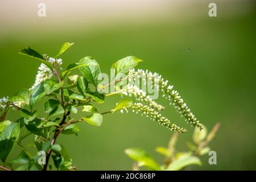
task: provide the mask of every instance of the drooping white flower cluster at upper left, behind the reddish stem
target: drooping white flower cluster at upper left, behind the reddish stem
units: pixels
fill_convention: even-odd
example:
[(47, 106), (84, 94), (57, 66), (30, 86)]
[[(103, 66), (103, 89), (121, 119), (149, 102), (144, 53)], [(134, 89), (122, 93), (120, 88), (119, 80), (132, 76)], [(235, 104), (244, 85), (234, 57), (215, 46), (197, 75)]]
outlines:
[[(57, 65), (59, 67), (62, 64), (61, 59), (54, 59), (52, 57), (48, 57), (47, 55), (43, 55), (44, 59), (46, 59), (49, 63), (53, 65)], [(54, 73), (49, 69), (45, 64), (41, 64), (40, 67), (38, 68), (38, 74), (36, 75), (35, 78), (35, 83), (32, 85), (31, 89), (34, 89), (36, 85), (40, 84), (40, 82), (46, 81), (49, 78), (51, 78), (54, 75)]]

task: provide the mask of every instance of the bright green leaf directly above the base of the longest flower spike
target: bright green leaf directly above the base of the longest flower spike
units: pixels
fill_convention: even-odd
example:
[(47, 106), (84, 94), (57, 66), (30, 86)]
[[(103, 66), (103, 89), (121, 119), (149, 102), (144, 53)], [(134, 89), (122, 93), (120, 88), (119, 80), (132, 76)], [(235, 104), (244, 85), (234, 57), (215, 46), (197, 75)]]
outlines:
[(119, 73), (126, 74), (130, 69), (137, 66), (141, 59), (138, 59), (135, 56), (127, 56), (117, 62), (115, 62), (111, 69), (114, 71), (114, 76), (117, 76)]

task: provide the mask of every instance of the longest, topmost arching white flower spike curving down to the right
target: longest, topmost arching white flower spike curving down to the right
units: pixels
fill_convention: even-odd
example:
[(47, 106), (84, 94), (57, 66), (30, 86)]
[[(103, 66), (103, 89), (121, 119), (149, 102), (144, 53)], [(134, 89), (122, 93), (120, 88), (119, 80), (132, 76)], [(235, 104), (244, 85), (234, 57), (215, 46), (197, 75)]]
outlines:
[(138, 69), (138, 71), (135, 71), (134, 69), (131, 69), (128, 78), (135, 79), (138, 77), (147, 77), (147, 79), (157, 83), (157, 88), (163, 92), (163, 97), (167, 98), (170, 101), (170, 104), (174, 105), (181, 116), (185, 118), (185, 121), (191, 123), (192, 126), (197, 126), (199, 129), (203, 129), (203, 125), (201, 125), (195, 115), (193, 115), (187, 104), (185, 104), (183, 99), (180, 97), (179, 93), (176, 90), (173, 90), (174, 86), (168, 85), (168, 80), (164, 81), (161, 75), (158, 75), (158, 73), (148, 72), (148, 70), (144, 71), (142, 69)]

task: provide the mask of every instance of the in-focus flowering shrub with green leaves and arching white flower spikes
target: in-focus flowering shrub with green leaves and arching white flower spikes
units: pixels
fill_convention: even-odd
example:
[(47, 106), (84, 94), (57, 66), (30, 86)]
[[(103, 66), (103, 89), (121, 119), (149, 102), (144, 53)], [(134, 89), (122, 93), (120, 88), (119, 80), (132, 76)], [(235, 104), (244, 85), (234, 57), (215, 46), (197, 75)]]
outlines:
[[(59, 58), (73, 43), (64, 43), (54, 57), (41, 55), (30, 47), (22, 49), (19, 53), (33, 57), (41, 64), (38, 68), (35, 82), (30, 89), (22, 89), (12, 97), (0, 99), (0, 159), (3, 166), (0, 168), (13, 169), (14, 164), (20, 164), (17, 170), (47, 170), (49, 160), (52, 158), (55, 167), (59, 170), (74, 170), (72, 160), (62, 144), (57, 144), (56, 139), (62, 134), (77, 134), (77, 123), (86, 122), (89, 125), (101, 126), (104, 114), (120, 110), (142, 113), (153, 121), (166, 127), (168, 130), (179, 133), (187, 132), (163, 117), (160, 111), (164, 106), (156, 103), (147, 92), (140, 88), (138, 80), (143, 85), (149, 85), (156, 92), (162, 92), (170, 104), (184, 117), (187, 123), (199, 130), (203, 125), (192, 114), (174, 86), (168, 84), (157, 73), (143, 71), (134, 67), (142, 60), (134, 56), (125, 57), (112, 65), (110, 83), (104, 83), (100, 65), (92, 57), (83, 57), (77, 63), (68, 65), (63, 71), (63, 61)], [(79, 70), (80, 75), (74, 74)], [(61, 72), (61, 73), (60, 73)], [(127, 83), (128, 82), (128, 83)], [(114, 88), (108, 93), (108, 88)], [(123, 98), (109, 111), (101, 113), (96, 105), (103, 104), (105, 98), (119, 94)], [(136, 103), (132, 98), (135, 98)], [(36, 104), (44, 101), (44, 118), (38, 117), (39, 111)], [(82, 107), (82, 108), (81, 108)], [(11, 110), (19, 110), (21, 117), (16, 121), (6, 119)], [(84, 117), (75, 119), (71, 113), (84, 112)], [(24, 127), (27, 133), (20, 136), (20, 129)], [(22, 145), (22, 140), (29, 135), (34, 135), (34, 146), (38, 154), (30, 154)], [(18, 144), (22, 151), (20, 155), (6, 162), (14, 145)]]

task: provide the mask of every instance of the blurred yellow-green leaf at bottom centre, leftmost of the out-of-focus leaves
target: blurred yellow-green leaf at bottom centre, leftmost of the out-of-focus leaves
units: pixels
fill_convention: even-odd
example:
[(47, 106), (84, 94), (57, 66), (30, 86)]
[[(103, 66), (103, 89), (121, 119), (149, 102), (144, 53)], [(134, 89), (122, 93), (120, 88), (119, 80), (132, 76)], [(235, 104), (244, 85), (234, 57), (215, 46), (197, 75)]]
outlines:
[(139, 167), (144, 166), (156, 171), (161, 169), (159, 164), (141, 148), (127, 148), (125, 150), (125, 154), (127, 154), (131, 159), (137, 161)]

